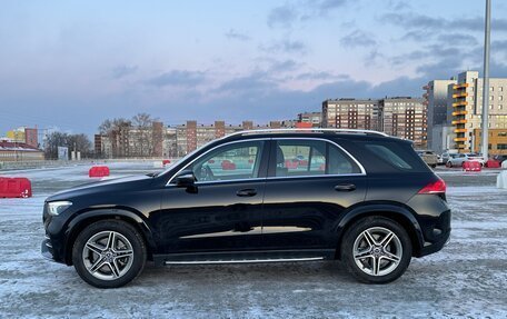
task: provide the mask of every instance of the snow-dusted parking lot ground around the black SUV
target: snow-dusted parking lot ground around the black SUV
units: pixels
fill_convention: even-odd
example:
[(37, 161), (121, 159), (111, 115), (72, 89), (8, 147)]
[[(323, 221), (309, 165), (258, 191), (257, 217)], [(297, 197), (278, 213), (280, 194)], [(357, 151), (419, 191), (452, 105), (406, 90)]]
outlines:
[[(110, 165), (112, 177), (153, 170)], [(0, 172), (32, 180), (29, 199), (0, 199), (0, 318), (455, 318), (507, 317), (507, 190), (496, 173), (439, 169), (453, 239), (412, 259), (386, 286), (358, 283), (338, 262), (155, 268), (128, 287), (100, 290), (40, 256), (46, 197), (88, 182), (88, 166)]]

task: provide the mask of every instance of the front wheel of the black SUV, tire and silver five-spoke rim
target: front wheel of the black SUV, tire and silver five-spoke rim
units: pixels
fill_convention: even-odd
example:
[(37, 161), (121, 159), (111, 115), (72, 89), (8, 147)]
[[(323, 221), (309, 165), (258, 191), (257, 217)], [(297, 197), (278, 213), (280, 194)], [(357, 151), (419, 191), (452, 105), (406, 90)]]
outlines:
[(118, 288), (145, 268), (147, 249), (139, 231), (121, 220), (101, 220), (84, 228), (72, 247), (79, 276), (97, 288)]

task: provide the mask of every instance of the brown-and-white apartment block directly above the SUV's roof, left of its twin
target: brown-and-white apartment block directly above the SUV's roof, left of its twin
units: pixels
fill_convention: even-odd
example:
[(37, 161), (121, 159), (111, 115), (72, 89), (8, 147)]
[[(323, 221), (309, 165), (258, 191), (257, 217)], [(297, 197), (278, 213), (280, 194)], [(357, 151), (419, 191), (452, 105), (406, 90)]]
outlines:
[(322, 127), (381, 130), (379, 100), (336, 99), (322, 102)]

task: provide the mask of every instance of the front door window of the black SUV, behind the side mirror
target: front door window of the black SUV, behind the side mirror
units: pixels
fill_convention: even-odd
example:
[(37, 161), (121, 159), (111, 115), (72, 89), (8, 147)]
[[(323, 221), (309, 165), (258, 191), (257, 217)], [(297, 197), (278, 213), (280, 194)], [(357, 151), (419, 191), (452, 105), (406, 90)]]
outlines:
[(257, 178), (262, 143), (232, 143), (202, 156), (192, 165), (197, 181)]

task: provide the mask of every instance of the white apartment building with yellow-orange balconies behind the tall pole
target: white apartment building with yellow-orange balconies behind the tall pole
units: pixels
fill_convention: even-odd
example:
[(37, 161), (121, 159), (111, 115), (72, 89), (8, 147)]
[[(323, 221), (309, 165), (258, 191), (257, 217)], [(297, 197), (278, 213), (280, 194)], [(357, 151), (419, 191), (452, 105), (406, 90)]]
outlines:
[[(489, 79), (490, 154), (505, 153), (503, 133), (507, 129), (507, 78)], [(455, 148), (459, 152), (479, 151), (483, 116), (483, 79), (477, 71), (458, 74), (451, 96)]]

